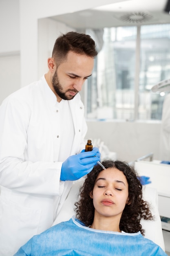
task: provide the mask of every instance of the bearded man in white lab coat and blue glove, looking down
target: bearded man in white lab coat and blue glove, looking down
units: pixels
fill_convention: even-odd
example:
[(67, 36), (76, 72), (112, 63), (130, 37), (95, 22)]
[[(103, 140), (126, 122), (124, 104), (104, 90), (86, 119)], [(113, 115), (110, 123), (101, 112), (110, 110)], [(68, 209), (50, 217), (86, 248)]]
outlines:
[(90, 36), (63, 34), (48, 59), (49, 71), (0, 107), (1, 256), (13, 255), (49, 228), (73, 180), (100, 160), (98, 148), (82, 150), (87, 126), (78, 94), (96, 55)]

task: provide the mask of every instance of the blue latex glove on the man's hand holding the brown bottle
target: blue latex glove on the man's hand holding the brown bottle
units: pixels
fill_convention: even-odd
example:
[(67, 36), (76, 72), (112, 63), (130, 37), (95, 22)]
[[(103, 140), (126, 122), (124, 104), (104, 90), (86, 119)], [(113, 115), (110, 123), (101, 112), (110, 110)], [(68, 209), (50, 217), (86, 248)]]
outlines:
[(97, 161), (100, 161), (100, 152), (98, 148), (92, 151), (84, 152), (77, 155), (71, 155), (62, 164), (60, 180), (78, 180), (84, 175), (91, 172)]

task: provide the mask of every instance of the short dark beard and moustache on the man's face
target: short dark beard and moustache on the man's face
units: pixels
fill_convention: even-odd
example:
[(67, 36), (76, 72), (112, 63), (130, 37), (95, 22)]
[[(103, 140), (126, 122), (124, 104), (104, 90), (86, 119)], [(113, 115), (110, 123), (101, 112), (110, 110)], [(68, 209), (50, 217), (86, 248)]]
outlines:
[(52, 85), (53, 88), (55, 90), (55, 92), (57, 93), (57, 95), (61, 98), (61, 99), (65, 99), (65, 100), (71, 100), (75, 97), (75, 95), (77, 94), (77, 90), (75, 89), (69, 89), (66, 92), (70, 91), (70, 92), (75, 92), (76, 94), (74, 96), (70, 95), (70, 96), (66, 96), (66, 92), (62, 92), (63, 88), (62, 85), (60, 84), (60, 81), (58, 79), (58, 75), (57, 75), (57, 70), (55, 71), (55, 74), (53, 75), (52, 78)]

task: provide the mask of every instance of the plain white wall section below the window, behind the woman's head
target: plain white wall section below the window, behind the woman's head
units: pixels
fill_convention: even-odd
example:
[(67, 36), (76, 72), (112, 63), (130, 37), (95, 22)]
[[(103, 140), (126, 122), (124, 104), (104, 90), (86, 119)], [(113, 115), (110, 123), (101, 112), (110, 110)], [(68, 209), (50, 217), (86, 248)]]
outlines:
[(133, 162), (153, 153), (159, 159), (160, 122), (88, 121), (87, 139), (104, 141), (119, 160)]

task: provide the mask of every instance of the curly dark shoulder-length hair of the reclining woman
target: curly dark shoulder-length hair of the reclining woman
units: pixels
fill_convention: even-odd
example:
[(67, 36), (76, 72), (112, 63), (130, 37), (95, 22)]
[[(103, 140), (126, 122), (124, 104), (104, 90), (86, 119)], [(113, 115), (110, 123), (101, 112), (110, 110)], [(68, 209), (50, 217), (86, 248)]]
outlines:
[[(121, 161), (103, 161), (105, 168), (117, 168), (126, 176), (128, 182), (128, 204), (126, 204), (121, 216), (119, 228), (127, 233), (136, 233), (138, 231), (144, 235), (144, 229), (140, 220), (152, 220), (153, 216), (149, 209), (148, 202), (142, 198), (142, 184), (137, 176), (135, 169), (126, 162)], [(103, 168), (98, 164), (88, 173), (83, 186), (79, 191), (79, 201), (75, 203), (76, 218), (81, 220), (86, 226), (92, 225), (95, 208), (90, 192), (93, 191), (95, 180)], [(129, 204), (130, 203), (130, 204)]]

